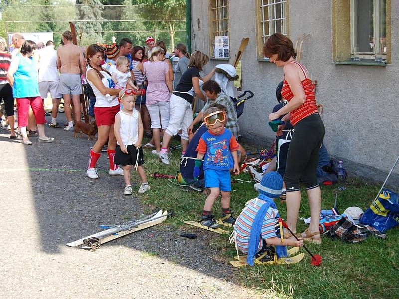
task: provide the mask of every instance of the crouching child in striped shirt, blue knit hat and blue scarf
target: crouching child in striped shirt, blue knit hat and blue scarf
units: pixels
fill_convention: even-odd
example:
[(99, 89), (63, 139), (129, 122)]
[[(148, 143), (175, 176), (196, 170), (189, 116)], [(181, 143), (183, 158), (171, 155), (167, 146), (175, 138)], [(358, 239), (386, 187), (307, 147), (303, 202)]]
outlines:
[(244, 254), (248, 255), (248, 259), (253, 260), (254, 256), (263, 255), (262, 261), (273, 260), (272, 245), (275, 246), (279, 258), (287, 256), (286, 246), (303, 246), (301, 238), (300, 241), (281, 239), (279, 212), (273, 199), (281, 195), (282, 187), (283, 179), (280, 174), (277, 172), (265, 174), (259, 186), (258, 197), (246, 203), (235, 222), (236, 244)]

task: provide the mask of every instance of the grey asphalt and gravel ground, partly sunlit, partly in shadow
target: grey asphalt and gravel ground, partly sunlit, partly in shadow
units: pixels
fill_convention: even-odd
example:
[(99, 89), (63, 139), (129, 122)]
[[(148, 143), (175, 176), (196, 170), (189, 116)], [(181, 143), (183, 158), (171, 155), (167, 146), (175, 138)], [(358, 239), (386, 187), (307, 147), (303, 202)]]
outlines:
[(96, 252), (67, 247), (99, 224), (139, 218), (148, 208), (121, 194), (123, 178), (105, 172), (106, 154), (100, 179), (86, 178), (93, 141), (48, 126), (46, 134), (55, 142), (31, 137), (26, 146), (0, 130), (0, 298), (260, 297), (240, 284), (200, 229), (191, 229), (198, 238), (189, 240), (166, 221)]

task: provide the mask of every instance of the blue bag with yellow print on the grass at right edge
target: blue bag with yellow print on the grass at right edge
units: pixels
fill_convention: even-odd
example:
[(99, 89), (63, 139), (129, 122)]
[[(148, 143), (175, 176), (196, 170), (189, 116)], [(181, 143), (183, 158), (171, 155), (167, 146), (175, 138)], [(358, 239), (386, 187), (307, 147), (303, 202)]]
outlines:
[(368, 224), (382, 233), (399, 225), (398, 194), (384, 189), (380, 196), (373, 201), (370, 208), (364, 212), (359, 222)]

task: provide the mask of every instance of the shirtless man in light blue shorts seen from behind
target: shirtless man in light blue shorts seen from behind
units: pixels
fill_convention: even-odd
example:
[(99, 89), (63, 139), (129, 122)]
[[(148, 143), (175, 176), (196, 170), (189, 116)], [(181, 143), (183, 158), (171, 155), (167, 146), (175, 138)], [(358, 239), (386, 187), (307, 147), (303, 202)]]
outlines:
[(57, 49), (57, 66), (61, 72), (58, 91), (64, 98), (65, 115), (68, 120), (68, 126), (64, 130), (68, 131), (73, 130), (70, 95), (72, 95), (75, 121), (80, 121), (80, 95), (82, 94), (80, 72), (85, 73), (86, 64), (82, 49), (72, 43), (72, 33), (70, 31), (62, 33), (62, 41), (64, 45)]

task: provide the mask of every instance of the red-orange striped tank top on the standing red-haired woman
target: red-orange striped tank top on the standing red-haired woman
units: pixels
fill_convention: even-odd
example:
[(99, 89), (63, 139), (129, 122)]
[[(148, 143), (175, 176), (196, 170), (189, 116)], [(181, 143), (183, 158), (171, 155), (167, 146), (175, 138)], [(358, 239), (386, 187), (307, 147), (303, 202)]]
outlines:
[[(316, 106), (316, 95), (312, 85), (312, 80), (306, 76), (305, 69), (300, 63), (296, 61), (291, 61), (291, 62), (299, 65), (303, 74), (305, 75), (305, 79), (301, 81), (303, 90), (305, 92), (305, 103), (303, 103), (301, 106), (290, 112), (290, 122), (293, 126), (295, 126), (296, 123), (298, 123), (300, 120), (303, 120), (305, 117), (317, 113), (317, 106)], [(287, 80), (285, 79), (284, 79), (283, 88), (281, 90), (281, 95), (287, 101), (290, 101), (294, 97), (294, 94), (292, 93), (291, 88), (288, 85)]]

